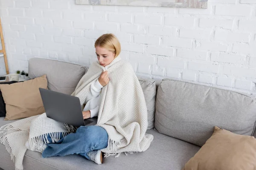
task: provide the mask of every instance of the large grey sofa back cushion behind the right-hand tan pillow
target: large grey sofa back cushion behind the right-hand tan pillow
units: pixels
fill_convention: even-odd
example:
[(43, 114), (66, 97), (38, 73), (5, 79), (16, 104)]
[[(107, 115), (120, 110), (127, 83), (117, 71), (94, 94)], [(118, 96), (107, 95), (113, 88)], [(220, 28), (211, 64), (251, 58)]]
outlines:
[(255, 122), (252, 96), (172, 79), (158, 87), (155, 128), (160, 133), (202, 146), (214, 126), (252, 135)]

